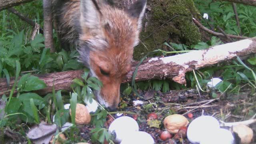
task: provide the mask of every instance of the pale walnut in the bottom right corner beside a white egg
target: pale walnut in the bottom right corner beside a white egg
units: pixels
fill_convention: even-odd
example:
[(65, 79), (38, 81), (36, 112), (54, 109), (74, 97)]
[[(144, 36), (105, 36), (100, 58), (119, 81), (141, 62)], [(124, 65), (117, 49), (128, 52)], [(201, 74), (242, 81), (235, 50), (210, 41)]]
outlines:
[(233, 132), (236, 132), (241, 138), (241, 144), (250, 144), (253, 138), (253, 131), (244, 124), (239, 124), (232, 127)]

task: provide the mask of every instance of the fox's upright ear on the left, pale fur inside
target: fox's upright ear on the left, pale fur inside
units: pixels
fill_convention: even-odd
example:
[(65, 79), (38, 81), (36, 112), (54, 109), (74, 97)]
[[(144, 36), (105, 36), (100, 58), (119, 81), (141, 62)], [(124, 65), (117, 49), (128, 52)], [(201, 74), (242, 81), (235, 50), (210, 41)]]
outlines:
[(100, 30), (102, 13), (96, 0), (80, 0), (80, 26), (83, 33)]

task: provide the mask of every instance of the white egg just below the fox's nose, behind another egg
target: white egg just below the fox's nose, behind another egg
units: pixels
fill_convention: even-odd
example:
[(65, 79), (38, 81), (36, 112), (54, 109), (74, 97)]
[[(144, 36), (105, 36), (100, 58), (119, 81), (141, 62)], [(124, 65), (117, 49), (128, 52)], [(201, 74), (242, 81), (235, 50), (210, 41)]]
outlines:
[(136, 120), (129, 116), (121, 116), (116, 118), (108, 128), (109, 133), (116, 133), (116, 142), (121, 142), (125, 137), (139, 131)]

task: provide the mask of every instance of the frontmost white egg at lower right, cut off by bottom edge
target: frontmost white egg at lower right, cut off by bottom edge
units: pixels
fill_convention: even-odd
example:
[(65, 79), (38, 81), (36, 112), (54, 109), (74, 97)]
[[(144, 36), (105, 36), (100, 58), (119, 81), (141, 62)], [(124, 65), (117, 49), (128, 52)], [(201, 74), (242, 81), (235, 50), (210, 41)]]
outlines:
[(218, 128), (202, 136), (200, 144), (234, 144), (234, 136), (229, 130)]

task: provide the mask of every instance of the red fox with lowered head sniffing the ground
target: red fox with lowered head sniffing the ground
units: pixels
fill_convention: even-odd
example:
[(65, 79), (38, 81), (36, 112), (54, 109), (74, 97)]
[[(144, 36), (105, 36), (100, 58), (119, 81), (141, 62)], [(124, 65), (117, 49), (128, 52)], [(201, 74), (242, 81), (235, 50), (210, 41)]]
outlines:
[(103, 83), (94, 92), (98, 102), (115, 110), (121, 81), (131, 70), (133, 48), (139, 42), (146, 0), (137, 0), (128, 9), (118, 9), (107, 0), (52, 2), (62, 44), (77, 46), (80, 62)]

